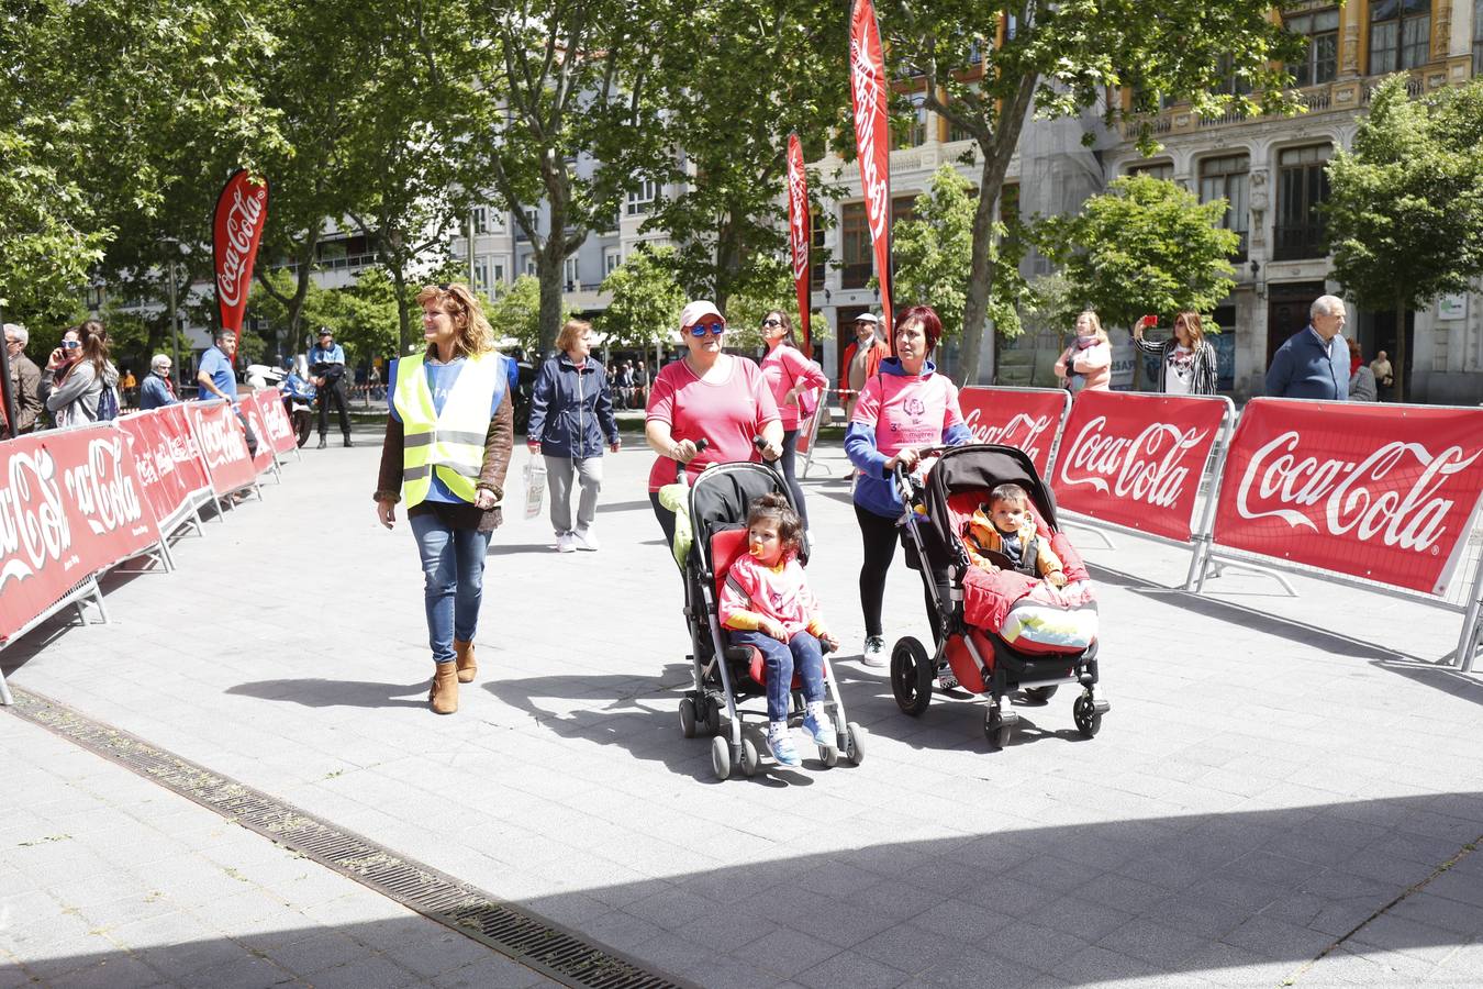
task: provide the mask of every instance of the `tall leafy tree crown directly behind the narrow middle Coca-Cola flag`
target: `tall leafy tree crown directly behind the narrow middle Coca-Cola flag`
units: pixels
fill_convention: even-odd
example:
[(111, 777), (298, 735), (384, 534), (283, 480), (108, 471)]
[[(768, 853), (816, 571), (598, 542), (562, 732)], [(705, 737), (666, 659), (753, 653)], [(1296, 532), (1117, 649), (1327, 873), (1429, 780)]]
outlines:
[[(675, 239), (679, 283), (722, 311), (733, 294), (771, 291), (776, 261), (787, 257), (789, 130), (805, 160), (823, 156), (820, 135), (845, 132), (847, 30), (835, 3), (715, 0), (688, 4), (663, 36), (664, 144), (684, 154), (650, 163), (647, 175), (679, 191), (655, 202), (644, 228)], [(839, 188), (810, 171), (816, 202)], [(792, 298), (767, 304), (792, 311)]]

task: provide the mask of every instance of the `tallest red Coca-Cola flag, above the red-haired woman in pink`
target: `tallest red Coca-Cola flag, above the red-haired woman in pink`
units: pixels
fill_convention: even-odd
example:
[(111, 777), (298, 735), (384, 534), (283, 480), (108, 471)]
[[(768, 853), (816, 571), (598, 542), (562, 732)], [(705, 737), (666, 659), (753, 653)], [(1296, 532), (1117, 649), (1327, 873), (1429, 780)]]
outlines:
[[(850, 105), (854, 110), (854, 147), (860, 157), (860, 193), (871, 228), (875, 277), (881, 283), (881, 313), (891, 314), (891, 122), (887, 114), (885, 55), (881, 25), (872, 0), (850, 7)], [(888, 334), (896, 350), (896, 334)]]

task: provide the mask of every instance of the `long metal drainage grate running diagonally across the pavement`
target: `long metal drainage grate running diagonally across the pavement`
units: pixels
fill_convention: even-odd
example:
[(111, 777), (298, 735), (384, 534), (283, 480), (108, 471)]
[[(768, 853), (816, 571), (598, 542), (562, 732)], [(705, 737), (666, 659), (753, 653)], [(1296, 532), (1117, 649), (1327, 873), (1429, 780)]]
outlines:
[(377, 890), (423, 916), (567, 986), (688, 989), (615, 952), (498, 902), (420, 861), (328, 824), (205, 767), (92, 721), (65, 704), (13, 688), (18, 716), (111, 759), (222, 817)]

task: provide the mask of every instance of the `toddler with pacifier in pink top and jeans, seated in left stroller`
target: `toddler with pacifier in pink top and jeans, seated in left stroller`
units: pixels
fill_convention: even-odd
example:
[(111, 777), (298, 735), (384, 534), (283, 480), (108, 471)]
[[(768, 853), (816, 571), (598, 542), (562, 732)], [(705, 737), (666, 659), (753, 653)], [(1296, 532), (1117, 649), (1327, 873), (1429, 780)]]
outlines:
[(747, 556), (731, 566), (721, 589), (721, 624), (734, 645), (753, 646), (767, 663), (767, 747), (780, 765), (802, 761), (787, 734), (787, 701), (796, 669), (807, 713), (804, 731), (819, 746), (832, 746), (833, 728), (825, 715), (825, 661), (820, 642), (838, 641), (825, 627), (819, 601), (798, 562), (802, 522), (780, 494), (752, 501)]

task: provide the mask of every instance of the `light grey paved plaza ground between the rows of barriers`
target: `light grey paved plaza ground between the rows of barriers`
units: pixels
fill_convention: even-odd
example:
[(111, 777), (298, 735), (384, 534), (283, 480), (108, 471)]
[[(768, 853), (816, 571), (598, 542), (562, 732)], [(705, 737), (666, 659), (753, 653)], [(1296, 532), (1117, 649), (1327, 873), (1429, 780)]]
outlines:
[[(989, 752), (977, 703), (909, 719), (856, 661), (826, 451), (810, 575), (868, 755), (716, 783), (675, 713), (688, 639), (647, 452), (605, 461), (601, 552), (555, 553), (544, 520), (495, 534), (480, 678), (439, 718), (417, 553), (375, 523), (365, 440), (305, 451), (176, 572), (110, 577), (113, 623), (43, 626), (0, 652), (12, 684), (682, 983), (1483, 983), (1483, 678), (1437, 663), (1453, 614), (1237, 574), (1192, 599), (1166, 592), (1179, 550), (1072, 532), (1112, 710), (1084, 741), (1068, 691), (1022, 701)], [(925, 636), (899, 560), (885, 620)], [(0, 712), (0, 989), (546, 985), (30, 721)]]

